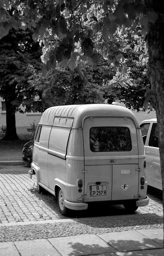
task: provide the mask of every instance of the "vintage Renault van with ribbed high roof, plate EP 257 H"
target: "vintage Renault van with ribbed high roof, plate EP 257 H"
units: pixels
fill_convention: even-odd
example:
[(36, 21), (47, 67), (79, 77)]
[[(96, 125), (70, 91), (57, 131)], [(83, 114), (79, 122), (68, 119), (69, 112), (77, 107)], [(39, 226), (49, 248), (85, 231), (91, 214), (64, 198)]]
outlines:
[(57, 197), (63, 215), (91, 202), (148, 205), (141, 129), (116, 104), (50, 107), (38, 123), (29, 177), (36, 174), (39, 193)]

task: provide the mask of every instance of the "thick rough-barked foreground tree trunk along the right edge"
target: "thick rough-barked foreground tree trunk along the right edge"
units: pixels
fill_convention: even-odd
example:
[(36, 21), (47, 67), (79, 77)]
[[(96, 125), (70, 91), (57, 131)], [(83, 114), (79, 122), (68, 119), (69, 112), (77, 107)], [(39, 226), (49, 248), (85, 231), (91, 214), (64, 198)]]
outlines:
[[(148, 0), (147, 6), (160, 14), (164, 14), (163, 0)], [(147, 45), (149, 53), (148, 77), (152, 91), (152, 105), (157, 113), (157, 123), (159, 130), (159, 152), (161, 160), (161, 175), (163, 188), (164, 206), (164, 23), (162, 17), (149, 23), (147, 34)]]

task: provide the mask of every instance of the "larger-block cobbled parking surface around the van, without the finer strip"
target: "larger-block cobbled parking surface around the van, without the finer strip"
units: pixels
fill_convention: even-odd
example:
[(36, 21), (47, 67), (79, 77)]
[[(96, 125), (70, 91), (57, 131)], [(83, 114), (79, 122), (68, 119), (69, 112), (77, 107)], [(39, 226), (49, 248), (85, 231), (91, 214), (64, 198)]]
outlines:
[[(60, 214), (57, 199), (46, 192), (38, 194), (36, 176), (30, 179), (30, 166), (0, 166), (0, 223), (30, 222), (51, 219), (127, 215), (122, 205), (74, 211), (70, 216)], [(155, 214), (163, 217), (162, 191), (148, 188), (149, 205), (139, 207), (134, 213)]]

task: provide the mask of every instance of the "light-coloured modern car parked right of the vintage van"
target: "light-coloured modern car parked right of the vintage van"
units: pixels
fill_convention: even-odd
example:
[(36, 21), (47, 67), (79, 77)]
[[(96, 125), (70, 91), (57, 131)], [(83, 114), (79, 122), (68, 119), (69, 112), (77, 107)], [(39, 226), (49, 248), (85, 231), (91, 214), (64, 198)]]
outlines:
[(145, 147), (148, 185), (162, 190), (157, 119), (144, 120), (139, 125)]

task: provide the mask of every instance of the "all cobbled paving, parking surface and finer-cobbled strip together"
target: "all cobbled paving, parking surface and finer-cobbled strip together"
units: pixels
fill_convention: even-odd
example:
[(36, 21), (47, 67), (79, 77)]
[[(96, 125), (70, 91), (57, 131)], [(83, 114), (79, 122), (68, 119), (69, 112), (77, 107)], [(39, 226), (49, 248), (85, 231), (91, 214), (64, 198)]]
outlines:
[(0, 242), (163, 227), (160, 190), (148, 188), (149, 205), (132, 215), (116, 205), (70, 212), (65, 217), (52, 194), (38, 194), (29, 169), (26, 165), (0, 166)]

